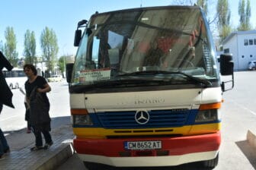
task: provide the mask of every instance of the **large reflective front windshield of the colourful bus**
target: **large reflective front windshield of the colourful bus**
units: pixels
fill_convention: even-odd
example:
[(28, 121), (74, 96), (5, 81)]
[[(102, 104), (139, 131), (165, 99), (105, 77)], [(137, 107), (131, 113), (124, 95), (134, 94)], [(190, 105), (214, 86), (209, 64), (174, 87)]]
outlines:
[(200, 8), (189, 9), (142, 8), (93, 15), (78, 48), (72, 85), (124, 79), (218, 80), (210, 30)]

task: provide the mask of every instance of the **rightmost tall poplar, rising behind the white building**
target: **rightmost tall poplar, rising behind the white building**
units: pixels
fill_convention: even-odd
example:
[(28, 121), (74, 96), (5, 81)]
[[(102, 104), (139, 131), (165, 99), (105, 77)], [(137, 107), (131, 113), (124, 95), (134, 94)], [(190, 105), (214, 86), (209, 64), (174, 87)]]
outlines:
[(240, 0), (238, 5), (238, 14), (240, 16), (240, 23), (238, 25), (238, 30), (251, 30), (250, 18), (251, 18), (251, 3), (247, 0), (245, 5), (245, 0)]

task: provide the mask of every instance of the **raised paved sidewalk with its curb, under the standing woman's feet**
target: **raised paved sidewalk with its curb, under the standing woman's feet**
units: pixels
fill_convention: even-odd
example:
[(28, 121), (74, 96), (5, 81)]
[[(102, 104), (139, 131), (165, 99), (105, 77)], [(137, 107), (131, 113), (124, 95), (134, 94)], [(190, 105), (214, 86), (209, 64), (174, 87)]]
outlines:
[(70, 125), (60, 126), (52, 131), (53, 146), (47, 150), (38, 150), (31, 152), (30, 148), (34, 146), (33, 139), (24, 133), (10, 136), (16, 150), (6, 156), (6, 159), (0, 162), (1, 170), (56, 170), (75, 153), (72, 146), (74, 134)]

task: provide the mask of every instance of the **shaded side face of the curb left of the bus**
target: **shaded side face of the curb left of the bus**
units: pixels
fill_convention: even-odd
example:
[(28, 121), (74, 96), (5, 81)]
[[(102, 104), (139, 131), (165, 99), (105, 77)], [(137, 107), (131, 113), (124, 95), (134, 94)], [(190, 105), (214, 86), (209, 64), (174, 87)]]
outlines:
[(45, 170), (45, 169), (56, 169), (59, 165), (66, 162), (74, 154), (74, 149), (72, 143), (62, 144), (60, 149), (54, 153), (52, 156), (49, 156), (49, 159), (44, 161), (38, 167), (30, 167), (31, 169)]

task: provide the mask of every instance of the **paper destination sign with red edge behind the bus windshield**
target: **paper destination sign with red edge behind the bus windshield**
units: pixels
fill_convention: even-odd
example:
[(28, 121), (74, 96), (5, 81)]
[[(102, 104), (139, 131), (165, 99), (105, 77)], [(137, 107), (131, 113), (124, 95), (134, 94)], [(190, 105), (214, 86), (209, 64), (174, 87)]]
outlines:
[(81, 81), (95, 81), (95, 80), (108, 80), (110, 79), (110, 69), (94, 69), (89, 71), (81, 71), (79, 80)]

